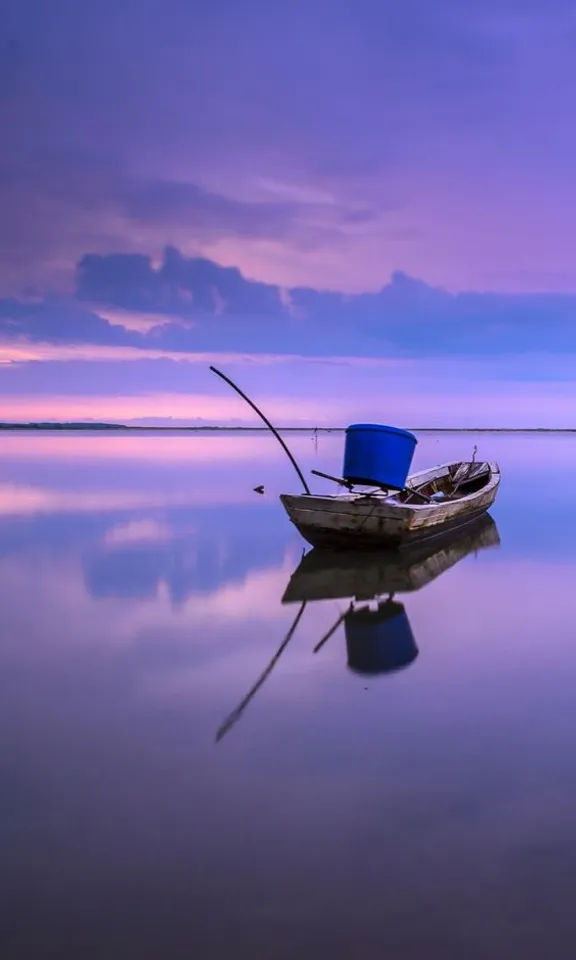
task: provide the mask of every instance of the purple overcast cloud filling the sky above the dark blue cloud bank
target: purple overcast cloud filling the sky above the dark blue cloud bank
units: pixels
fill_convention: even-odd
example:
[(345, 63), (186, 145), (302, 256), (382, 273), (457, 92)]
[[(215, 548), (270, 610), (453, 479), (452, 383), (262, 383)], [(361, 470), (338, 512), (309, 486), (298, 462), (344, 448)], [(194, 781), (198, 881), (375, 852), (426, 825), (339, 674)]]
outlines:
[(0, 11), (6, 292), (166, 242), (283, 286), (576, 285), (567, 2), (49, 6)]

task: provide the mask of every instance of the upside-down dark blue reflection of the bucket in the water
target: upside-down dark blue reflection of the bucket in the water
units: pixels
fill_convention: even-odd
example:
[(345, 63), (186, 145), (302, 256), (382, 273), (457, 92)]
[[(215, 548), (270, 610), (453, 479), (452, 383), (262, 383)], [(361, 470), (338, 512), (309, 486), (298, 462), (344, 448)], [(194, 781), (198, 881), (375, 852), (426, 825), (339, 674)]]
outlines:
[(389, 600), (378, 610), (354, 610), (344, 620), (348, 668), (354, 673), (392, 673), (418, 656), (410, 622), (401, 603)]

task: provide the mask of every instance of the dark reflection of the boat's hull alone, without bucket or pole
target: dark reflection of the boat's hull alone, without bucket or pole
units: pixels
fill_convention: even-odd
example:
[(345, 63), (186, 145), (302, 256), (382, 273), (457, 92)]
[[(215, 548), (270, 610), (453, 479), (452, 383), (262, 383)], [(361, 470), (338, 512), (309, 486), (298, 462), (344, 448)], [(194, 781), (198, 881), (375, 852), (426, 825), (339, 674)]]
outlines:
[(500, 544), (492, 517), (445, 537), (419, 541), (395, 550), (310, 550), (290, 577), (282, 603), (353, 599), (367, 601), (386, 594), (414, 593), (464, 557)]

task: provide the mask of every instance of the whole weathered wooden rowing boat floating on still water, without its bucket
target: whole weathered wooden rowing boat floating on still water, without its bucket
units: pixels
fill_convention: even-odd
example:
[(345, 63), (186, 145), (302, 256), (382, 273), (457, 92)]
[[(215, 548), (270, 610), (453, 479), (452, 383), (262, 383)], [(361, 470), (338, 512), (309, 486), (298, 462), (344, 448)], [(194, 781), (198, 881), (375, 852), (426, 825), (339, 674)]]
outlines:
[(398, 549), (477, 520), (499, 484), (497, 463), (457, 462), (412, 474), (401, 491), (281, 494), (280, 500), (313, 546)]

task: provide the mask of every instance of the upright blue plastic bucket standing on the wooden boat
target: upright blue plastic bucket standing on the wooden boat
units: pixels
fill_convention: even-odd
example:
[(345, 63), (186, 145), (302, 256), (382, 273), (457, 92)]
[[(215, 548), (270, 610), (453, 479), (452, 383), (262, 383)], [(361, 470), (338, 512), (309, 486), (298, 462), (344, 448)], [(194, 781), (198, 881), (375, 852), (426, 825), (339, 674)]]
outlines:
[(408, 430), (353, 423), (346, 428), (344, 479), (365, 486), (403, 489), (417, 443)]

